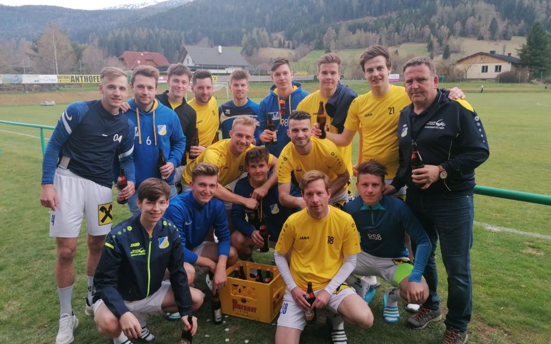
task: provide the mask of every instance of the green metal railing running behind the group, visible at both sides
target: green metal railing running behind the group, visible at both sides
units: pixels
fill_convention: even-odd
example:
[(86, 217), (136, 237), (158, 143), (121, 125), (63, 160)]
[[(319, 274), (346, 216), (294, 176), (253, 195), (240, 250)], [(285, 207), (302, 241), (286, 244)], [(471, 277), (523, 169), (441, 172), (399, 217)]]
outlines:
[[(40, 124), (28, 124), (28, 123), (18, 123), (18, 122), (9, 122), (9, 121), (0, 121), (3, 124), (19, 125), (20, 127), (30, 127), (40, 129), (40, 141), (42, 144), (42, 155), (46, 151), (46, 142), (44, 139), (44, 129), (53, 130), (55, 127), (50, 125), (40, 125)], [(516, 190), (507, 190), (499, 188), (484, 187), (482, 185), (476, 185), (474, 187), (474, 193), (478, 195), (485, 195), (497, 198), (512, 199), (516, 201), (523, 201), (528, 203), (536, 203), (543, 205), (551, 205), (551, 196), (542, 195), (542, 194), (533, 194), (529, 192), (522, 192)]]

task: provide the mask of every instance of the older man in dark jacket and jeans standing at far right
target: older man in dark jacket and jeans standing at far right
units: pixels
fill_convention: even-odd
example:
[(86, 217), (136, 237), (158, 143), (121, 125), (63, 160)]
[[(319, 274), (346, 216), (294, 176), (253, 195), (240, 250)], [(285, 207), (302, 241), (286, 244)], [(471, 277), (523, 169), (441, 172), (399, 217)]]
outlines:
[[(409, 318), (408, 325), (422, 329), (441, 318), (435, 261), (436, 243), (440, 241), (449, 294), (442, 343), (465, 343), (472, 313), (469, 251), (473, 243), (474, 169), (488, 159), (487, 136), (468, 102), (450, 100), (437, 88), (438, 77), (429, 58), (410, 59), (403, 72), (412, 101), (401, 111), (398, 122), (398, 143), (404, 159), (385, 193), (408, 185), (406, 203), (423, 224), (432, 245), (424, 272), (429, 298), (419, 313)], [(425, 163), (413, 171), (408, 159), (412, 140)]]

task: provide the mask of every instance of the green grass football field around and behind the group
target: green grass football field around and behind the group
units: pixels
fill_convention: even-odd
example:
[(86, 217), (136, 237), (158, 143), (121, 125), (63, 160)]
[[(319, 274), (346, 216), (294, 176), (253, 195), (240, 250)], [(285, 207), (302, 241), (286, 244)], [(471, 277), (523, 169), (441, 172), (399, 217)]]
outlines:
[[(358, 93), (366, 83), (349, 83)], [(551, 94), (532, 85), (485, 83), (460, 85), (483, 121), (490, 144), (490, 158), (477, 170), (477, 183), (490, 187), (551, 194)], [(260, 101), (267, 84), (251, 86), (251, 96)], [(305, 85), (315, 90), (315, 84)], [(58, 94), (0, 94), (0, 119), (55, 125), (66, 103), (95, 99), (93, 89)], [(225, 95), (224, 95), (225, 97)], [(58, 99), (52, 107), (36, 106), (37, 100)], [(66, 101), (63, 101), (66, 100)], [(219, 101), (222, 101), (219, 98)], [(9, 106), (17, 104), (18, 106)], [(48, 137), (50, 133), (46, 133)], [(0, 124), (0, 342), (51, 343), (58, 326), (58, 298), (53, 278), (55, 241), (48, 238), (48, 210), (39, 204), (41, 150), (37, 129)], [(354, 159), (357, 147), (354, 147)], [(473, 269), (473, 319), (469, 337), (473, 343), (549, 343), (551, 338), (551, 255), (549, 206), (509, 201), (487, 196), (475, 197)], [(114, 222), (129, 216), (126, 208), (115, 206)], [(480, 223), (512, 228), (521, 233), (490, 231)], [(530, 233), (544, 237), (534, 237)], [(80, 320), (75, 343), (106, 343), (96, 331), (93, 319), (84, 315), (85, 235), (82, 232), (75, 266), (77, 269), (73, 307)], [(262, 262), (269, 255), (256, 255)], [(445, 270), (439, 261), (440, 296), (445, 313), (447, 299)], [(204, 284), (199, 282), (199, 287)], [(346, 326), (350, 343), (436, 343), (444, 324), (425, 330), (405, 327), (408, 314), (396, 325), (382, 321), (382, 287), (371, 303), (375, 324), (369, 330)], [(451, 296), (453, 297), (453, 296)], [(271, 343), (275, 326), (229, 316), (224, 325), (210, 319), (210, 297), (196, 312), (199, 332), (196, 343)], [(308, 326), (303, 343), (326, 341), (325, 313)], [(157, 343), (179, 341), (181, 326), (152, 318), (149, 329)], [(228, 328), (226, 332), (224, 329)], [(208, 336), (208, 337), (206, 337)]]

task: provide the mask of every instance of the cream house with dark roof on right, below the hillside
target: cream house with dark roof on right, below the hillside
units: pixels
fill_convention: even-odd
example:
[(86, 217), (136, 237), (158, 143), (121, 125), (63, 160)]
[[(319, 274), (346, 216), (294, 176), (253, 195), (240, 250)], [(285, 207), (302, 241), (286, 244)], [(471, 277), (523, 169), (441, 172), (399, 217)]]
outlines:
[(507, 55), (496, 54), (495, 50), (477, 52), (471, 56), (457, 60), (456, 69), (461, 70), (466, 79), (493, 80), (499, 73), (514, 70), (520, 59)]

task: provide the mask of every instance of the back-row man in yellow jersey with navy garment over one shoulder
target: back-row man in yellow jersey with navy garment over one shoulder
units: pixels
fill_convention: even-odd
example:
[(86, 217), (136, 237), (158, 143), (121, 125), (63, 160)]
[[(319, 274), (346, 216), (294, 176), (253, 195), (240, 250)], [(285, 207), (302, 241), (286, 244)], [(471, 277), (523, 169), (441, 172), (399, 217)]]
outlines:
[[(342, 63), (342, 58), (336, 53), (330, 52), (320, 56), (316, 62), (316, 76), (320, 81), (320, 89), (307, 96), (296, 107), (298, 111), (310, 113), (314, 124), (322, 101), (327, 114), (328, 131), (335, 134), (343, 132), (350, 103), (358, 96), (353, 89), (339, 83)], [(348, 173), (352, 176), (352, 144), (338, 147), (338, 150), (346, 163)]]

